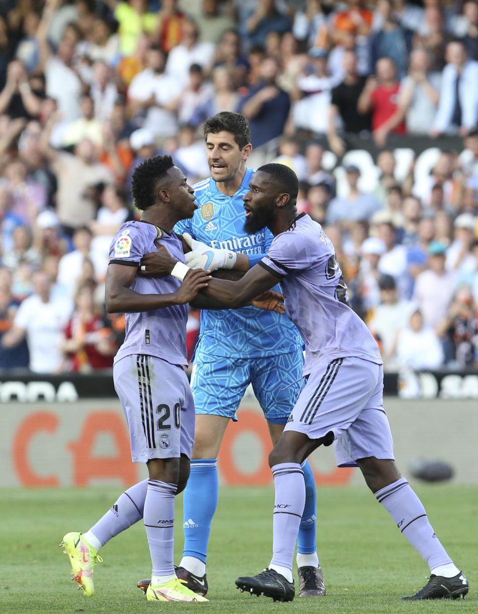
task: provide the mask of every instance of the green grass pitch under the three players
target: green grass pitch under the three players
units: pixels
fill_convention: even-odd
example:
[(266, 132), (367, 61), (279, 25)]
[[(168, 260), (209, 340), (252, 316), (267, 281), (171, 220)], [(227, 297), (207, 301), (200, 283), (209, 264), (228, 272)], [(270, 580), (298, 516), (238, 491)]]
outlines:
[[(428, 567), (393, 526), (386, 511), (363, 486), (320, 488), (317, 543), (327, 596), (273, 603), (241, 594), (238, 575), (262, 571), (270, 561), (273, 489), (221, 488), (208, 557), (209, 604), (146, 602), (135, 582), (150, 575), (141, 523), (109, 542), (95, 568), (94, 597), (70, 581), (69, 561), (58, 547), (70, 530), (87, 530), (115, 501), (118, 488), (1, 489), (0, 612), (152, 613), (156, 610), (255, 614), (478, 612), (478, 488), (418, 486), (431, 523), (471, 585), (465, 600), (401, 602), (426, 583)], [(176, 505), (182, 519), (181, 497)], [(176, 561), (182, 545), (176, 523)], [(294, 572), (295, 573), (295, 572)]]

